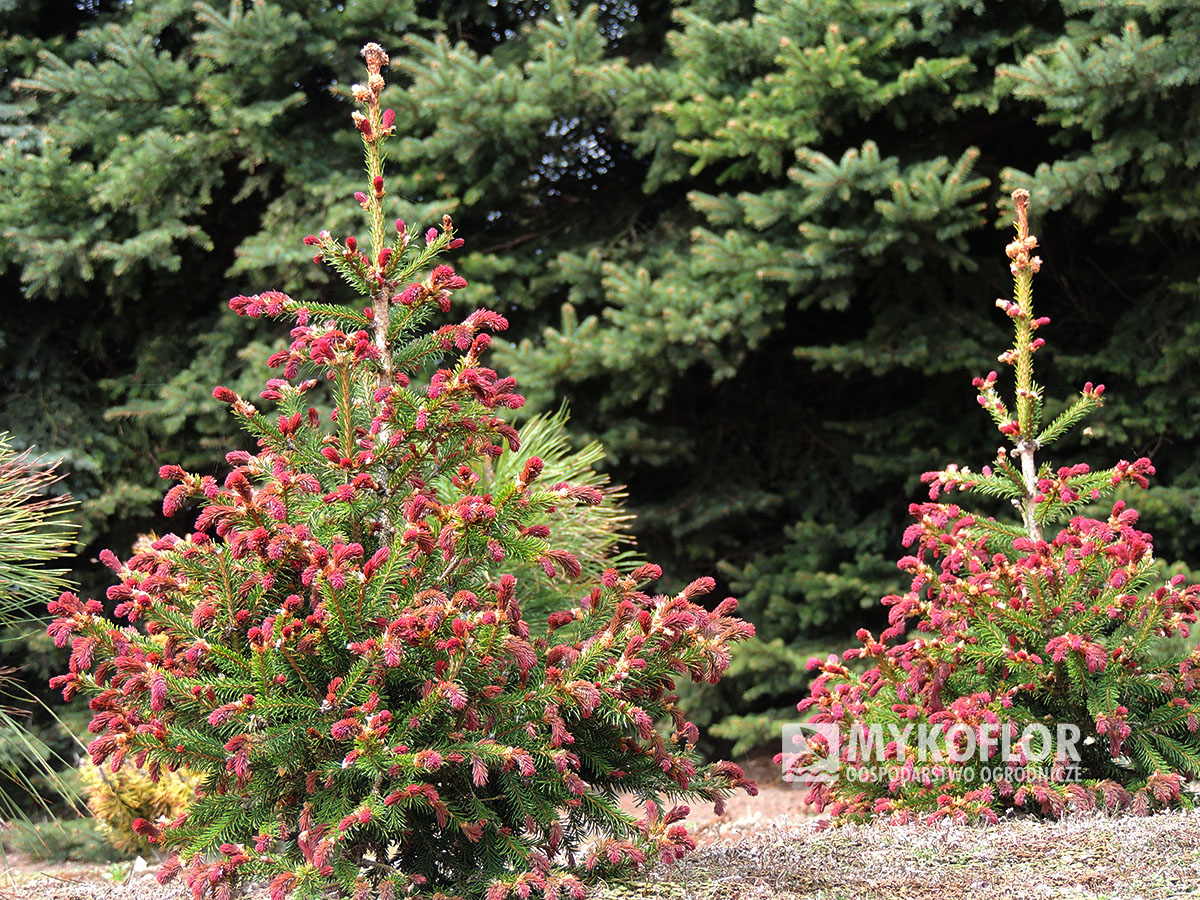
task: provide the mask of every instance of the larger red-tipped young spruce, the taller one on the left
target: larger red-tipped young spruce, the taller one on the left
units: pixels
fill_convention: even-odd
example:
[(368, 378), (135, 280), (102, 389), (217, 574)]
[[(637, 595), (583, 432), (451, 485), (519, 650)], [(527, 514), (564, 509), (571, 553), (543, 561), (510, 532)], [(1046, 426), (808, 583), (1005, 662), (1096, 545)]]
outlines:
[[(588, 878), (691, 846), (686, 808), (660, 811), (664, 797), (754, 792), (732, 763), (700, 763), (672, 692), (679, 677), (720, 678), (752, 629), (732, 599), (696, 604), (712, 580), (647, 593), (650, 564), (578, 584), (547, 619), (522, 614), (511, 570), (580, 576), (547, 521), (600, 492), (544, 484), (535, 457), (479, 490), (481, 462), (518, 452), (502, 416), (522, 403), (516, 384), (480, 361), (506, 322), (479, 310), (430, 326), (466, 286), (433, 265), (462, 240), (449, 217), (419, 236), (385, 229), (388, 58), (377, 44), (364, 56), (355, 199), (370, 234), (306, 242), (368, 304), (230, 301), (295, 320), (262, 392), (278, 413), (214, 391), (257, 451), (230, 452), (223, 484), (163, 467), (178, 482), (163, 511), (197, 502), (194, 530), (103, 554), (128, 625), (73, 594), (52, 605), (49, 631), (72, 647), (54, 684), (90, 695), (97, 766), (199, 774), (185, 814), (136, 823), (172, 853), (160, 877), (186, 866), (198, 899), (248, 880), (275, 900), (580, 898)], [(328, 418), (310, 406), (322, 378)], [(622, 792), (644, 816), (622, 811)]]

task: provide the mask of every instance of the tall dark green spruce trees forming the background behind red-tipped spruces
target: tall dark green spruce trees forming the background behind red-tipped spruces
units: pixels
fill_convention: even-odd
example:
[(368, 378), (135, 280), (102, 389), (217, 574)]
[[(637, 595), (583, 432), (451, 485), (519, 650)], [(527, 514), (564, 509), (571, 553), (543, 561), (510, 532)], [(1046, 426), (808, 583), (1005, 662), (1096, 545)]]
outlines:
[(934, 420), (1000, 335), (965, 298), (1003, 292), (984, 210), (1015, 184), (1054, 210), (1050, 394), (1099, 353), (1112, 373), (1063, 452), (1152, 455), (1146, 527), (1168, 559), (1200, 553), (1190, 0), (170, 0), (56, 35), (41, 8), (0, 47), (30, 85), (0, 96), (20, 136), (0, 420), (66, 458), (89, 541), (152, 527), (157, 462), (227, 439), (204, 385), (265, 352), (222, 298), (251, 271), (325, 296), (294, 239), (348, 224), (326, 211), (358, 151), (310, 126), (344, 114), (346, 48), (370, 36), (398, 82), (402, 214), (457, 206), (468, 300), (527, 310), (504, 367), (604, 442), (647, 556), (719, 564), (775, 642), (718, 707), (787, 714), (809, 643), (899, 586), (912, 473), (983, 438)]

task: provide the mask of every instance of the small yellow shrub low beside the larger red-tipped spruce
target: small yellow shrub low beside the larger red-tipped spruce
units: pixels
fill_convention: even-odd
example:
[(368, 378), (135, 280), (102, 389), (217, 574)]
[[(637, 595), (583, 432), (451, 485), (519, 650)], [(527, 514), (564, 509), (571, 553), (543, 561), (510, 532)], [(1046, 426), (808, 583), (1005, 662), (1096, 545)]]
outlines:
[(187, 770), (163, 772), (158, 784), (140, 769), (124, 766), (113, 773), (91, 762), (79, 767), (88, 809), (101, 823), (113, 846), (125, 853), (145, 853), (150, 845), (133, 833), (133, 820), (155, 822), (160, 817), (175, 818), (192, 802), (197, 776)]

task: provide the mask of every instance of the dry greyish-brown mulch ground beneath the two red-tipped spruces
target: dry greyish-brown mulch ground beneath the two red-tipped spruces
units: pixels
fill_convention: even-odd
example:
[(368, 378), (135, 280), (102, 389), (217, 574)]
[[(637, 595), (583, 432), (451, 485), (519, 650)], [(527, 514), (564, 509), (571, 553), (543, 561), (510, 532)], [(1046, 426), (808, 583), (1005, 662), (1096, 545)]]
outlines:
[[(736, 798), (721, 817), (696, 810), (694, 854), (594, 900), (1200, 900), (1200, 810), (820, 830), (769, 763), (749, 768), (760, 796)], [(106, 878), (110, 869), (18, 864), (0, 872), (0, 900), (190, 898), (160, 887), (152, 866), (124, 883)]]

